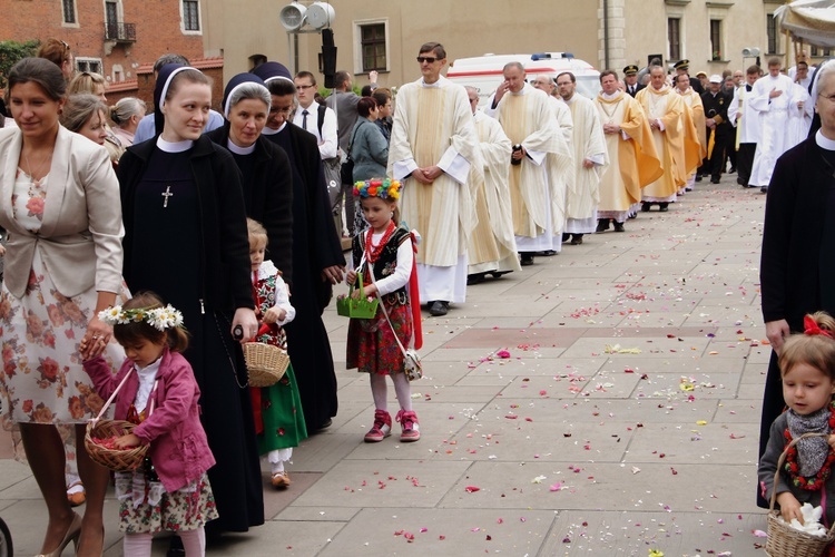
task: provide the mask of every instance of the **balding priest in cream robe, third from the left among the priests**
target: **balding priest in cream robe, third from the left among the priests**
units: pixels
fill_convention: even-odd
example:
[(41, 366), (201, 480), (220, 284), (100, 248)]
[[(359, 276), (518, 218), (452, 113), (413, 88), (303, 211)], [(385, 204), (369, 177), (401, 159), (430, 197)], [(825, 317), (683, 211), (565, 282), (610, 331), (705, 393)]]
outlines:
[(515, 164), (508, 162), (513, 232), (522, 265), (531, 265), (534, 253), (560, 247), (573, 155), (556, 124), (553, 100), (524, 82), (521, 63), (508, 63), (503, 74), (485, 113), (514, 146)]

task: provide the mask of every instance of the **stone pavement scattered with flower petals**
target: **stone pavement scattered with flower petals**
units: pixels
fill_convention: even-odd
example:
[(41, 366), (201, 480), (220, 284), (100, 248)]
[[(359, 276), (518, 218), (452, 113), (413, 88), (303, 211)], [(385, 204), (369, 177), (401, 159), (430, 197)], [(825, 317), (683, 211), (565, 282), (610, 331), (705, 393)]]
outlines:
[[(753, 530), (766, 528), (754, 504), (765, 196), (735, 178), (426, 317), (418, 443), (400, 443), (396, 427), (363, 443), (369, 382), (344, 370), (347, 321), (332, 306), (338, 416), (296, 450), (287, 491), (264, 476), (267, 524), (208, 554), (764, 555)], [(0, 516), (32, 555), (43, 506), (8, 457)], [(112, 499), (106, 516), (106, 555), (121, 555)]]

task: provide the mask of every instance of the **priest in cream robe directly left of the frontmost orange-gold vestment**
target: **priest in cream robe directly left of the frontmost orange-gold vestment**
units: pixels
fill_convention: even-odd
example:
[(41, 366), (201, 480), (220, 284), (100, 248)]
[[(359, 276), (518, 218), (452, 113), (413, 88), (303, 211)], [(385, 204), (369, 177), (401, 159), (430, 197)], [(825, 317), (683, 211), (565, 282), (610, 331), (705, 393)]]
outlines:
[(582, 244), (583, 234), (597, 228), (597, 207), (600, 203), (600, 177), (609, 166), (606, 137), (595, 104), (577, 92), (577, 78), (570, 71), (557, 76), (560, 97), (571, 110), (574, 149), (574, 179), (566, 196), (566, 227), (562, 241), (571, 235), (571, 244)]

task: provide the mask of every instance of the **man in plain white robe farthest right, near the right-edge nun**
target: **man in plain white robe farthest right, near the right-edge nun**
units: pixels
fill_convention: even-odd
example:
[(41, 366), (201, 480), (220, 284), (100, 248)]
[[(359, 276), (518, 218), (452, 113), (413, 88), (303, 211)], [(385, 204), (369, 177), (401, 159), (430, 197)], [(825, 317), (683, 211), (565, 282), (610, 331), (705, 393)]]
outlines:
[(788, 109), (799, 99), (793, 96), (792, 78), (780, 74), (780, 59), (768, 60), (768, 75), (759, 78), (752, 89), (747, 108), (759, 117), (759, 140), (754, 154), (754, 167), (749, 184), (768, 190), (772, 173), (777, 159), (794, 145), (789, 145)]

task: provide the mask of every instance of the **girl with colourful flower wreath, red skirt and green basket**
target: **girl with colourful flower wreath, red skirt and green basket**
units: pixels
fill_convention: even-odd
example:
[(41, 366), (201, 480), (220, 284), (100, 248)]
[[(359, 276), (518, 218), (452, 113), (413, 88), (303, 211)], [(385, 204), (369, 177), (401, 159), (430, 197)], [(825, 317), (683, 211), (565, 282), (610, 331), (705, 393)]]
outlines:
[[(407, 346), (413, 334), (415, 348), (422, 344), (418, 273), (414, 267), (412, 234), (395, 224), (401, 185), (397, 180), (371, 179), (354, 184), (354, 198), (361, 201), (363, 216), (370, 227), (354, 236), (347, 283), (356, 284), (358, 274), (365, 295), (381, 299), (376, 315), (370, 320), (352, 319), (348, 324), (347, 369), (357, 368), (370, 374), (374, 398), (374, 426), (365, 434), (366, 442), (379, 442), (391, 434), (392, 417), (386, 409), (386, 381), (391, 375), (400, 403), (396, 421), (401, 423), (403, 442), (418, 441), (418, 416), (412, 410), (404, 355), (394, 335)], [(409, 284), (409, 289), (406, 289)], [(354, 291), (355, 297), (360, 291)], [(410, 305), (411, 299), (411, 305)], [(383, 314), (385, 306), (386, 315)]]

